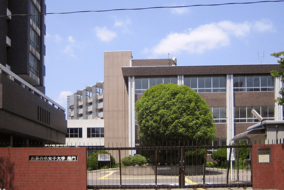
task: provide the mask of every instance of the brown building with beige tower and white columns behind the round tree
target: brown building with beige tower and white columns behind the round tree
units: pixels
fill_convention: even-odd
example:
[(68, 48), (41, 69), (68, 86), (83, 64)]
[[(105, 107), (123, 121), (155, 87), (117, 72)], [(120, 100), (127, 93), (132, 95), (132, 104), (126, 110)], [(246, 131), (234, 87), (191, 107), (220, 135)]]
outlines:
[[(208, 63), (209, 64), (209, 63)], [(135, 60), (131, 51), (104, 52), (104, 141), (139, 146), (134, 104), (145, 89), (160, 83), (187, 85), (203, 97), (217, 126), (214, 145), (226, 145), (258, 120), (283, 120), (274, 102), (282, 83), (270, 75), (279, 64), (177, 66), (174, 59)]]

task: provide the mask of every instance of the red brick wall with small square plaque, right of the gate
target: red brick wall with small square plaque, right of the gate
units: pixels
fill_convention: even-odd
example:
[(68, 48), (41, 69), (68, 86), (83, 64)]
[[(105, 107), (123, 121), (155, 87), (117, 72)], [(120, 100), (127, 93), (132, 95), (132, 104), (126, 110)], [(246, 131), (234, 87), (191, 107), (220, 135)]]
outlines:
[[(257, 163), (257, 147), (271, 147), (271, 163)], [(284, 189), (284, 144), (253, 145), (253, 189)]]

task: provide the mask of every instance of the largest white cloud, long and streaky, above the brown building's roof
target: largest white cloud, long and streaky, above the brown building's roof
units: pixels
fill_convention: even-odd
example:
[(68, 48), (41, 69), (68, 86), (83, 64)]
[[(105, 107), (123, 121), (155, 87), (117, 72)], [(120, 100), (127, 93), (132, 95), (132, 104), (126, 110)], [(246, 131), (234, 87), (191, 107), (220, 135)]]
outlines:
[[(204, 24), (195, 29), (188, 29), (182, 33), (171, 32), (162, 39), (150, 52), (154, 55), (168, 52), (180, 54), (182, 51), (189, 53), (203, 53), (206, 50), (216, 49), (230, 44), (233, 37), (244, 38), (250, 32), (271, 31), (272, 24), (264, 22), (221, 21), (219, 23)], [(145, 48), (143, 52), (147, 53)]]

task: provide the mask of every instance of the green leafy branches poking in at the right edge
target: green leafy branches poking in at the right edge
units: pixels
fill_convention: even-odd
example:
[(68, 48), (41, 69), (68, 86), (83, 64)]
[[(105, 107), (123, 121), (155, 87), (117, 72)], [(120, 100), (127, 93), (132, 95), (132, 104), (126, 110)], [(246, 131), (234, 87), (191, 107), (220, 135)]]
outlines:
[[(281, 56), (284, 55), (284, 51), (283, 52), (278, 52), (278, 53), (272, 53), (270, 54), (271, 56), (274, 56), (276, 58), (280, 58), (280, 60), (278, 60), (277, 62), (280, 64), (280, 68), (284, 69), (284, 58), (281, 58)], [(284, 71), (277, 71), (277, 70), (273, 70), (270, 72), (270, 74), (273, 77), (280, 77), (281, 81), (284, 82)], [(277, 102), (280, 105), (284, 105), (284, 88), (282, 88), (280, 91), (280, 97), (278, 97), (277, 99), (275, 99), (275, 102)]]

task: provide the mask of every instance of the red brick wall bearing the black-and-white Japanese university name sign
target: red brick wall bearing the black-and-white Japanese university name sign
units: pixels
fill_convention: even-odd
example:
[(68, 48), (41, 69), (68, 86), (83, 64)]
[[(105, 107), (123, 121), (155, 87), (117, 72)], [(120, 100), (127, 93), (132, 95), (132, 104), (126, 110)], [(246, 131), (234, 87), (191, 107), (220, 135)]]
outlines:
[[(29, 156), (78, 156), (77, 161), (29, 161)], [(86, 148), (0, 148), (0, 188), (87, 189)]]

